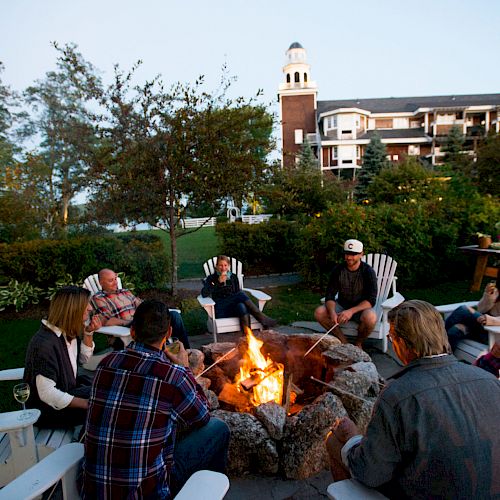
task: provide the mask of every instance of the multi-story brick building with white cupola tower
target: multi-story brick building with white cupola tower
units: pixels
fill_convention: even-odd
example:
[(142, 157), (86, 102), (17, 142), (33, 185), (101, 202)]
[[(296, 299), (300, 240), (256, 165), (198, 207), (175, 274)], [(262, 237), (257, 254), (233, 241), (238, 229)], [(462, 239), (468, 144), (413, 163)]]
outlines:
[(500, 131), (500, 94), (318, 101), (305, 49), (292, 43), (286, 57), (278, 93), (283, 166), (295, 163), (305, 138), (322, 171), (355, 178), (375, 133), (390, 160), (418, 156), (436, 164), (453, 126), (463, 132), (470, 154), (490, 129)]

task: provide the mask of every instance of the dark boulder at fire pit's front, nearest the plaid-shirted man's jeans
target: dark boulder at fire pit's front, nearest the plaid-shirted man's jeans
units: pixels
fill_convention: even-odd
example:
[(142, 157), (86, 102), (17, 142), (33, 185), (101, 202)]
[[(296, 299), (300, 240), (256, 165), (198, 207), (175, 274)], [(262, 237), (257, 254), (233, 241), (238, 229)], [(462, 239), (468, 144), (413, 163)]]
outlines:
[(278, 472), (276, 443), (253, 415), (224, 410), (216, 410), (212, 415), (226, 422), (231, 431), (227, 467), (229, 474)]

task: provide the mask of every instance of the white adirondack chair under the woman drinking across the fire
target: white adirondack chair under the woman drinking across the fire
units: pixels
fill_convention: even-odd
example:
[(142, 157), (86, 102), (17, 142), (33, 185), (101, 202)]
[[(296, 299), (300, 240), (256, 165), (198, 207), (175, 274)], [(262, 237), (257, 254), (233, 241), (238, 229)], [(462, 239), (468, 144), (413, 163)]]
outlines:
[[(215, 266), (217, 265), (217, 257), (212, 257), (203, 264), (203, 270), (205, 271), (205, 278), (215, 273)], [(231, 272), (236, 274), (240, 282), (240, 288), (244, 291), (253, 295), (259, 303), (259, 309), (262, 311), (266, 302), (271, 300), (271, 297), (267, 293), (261, 292), (260, 290), (254, 290), (252, 288), (245, 288), (243, 285), (243, 264), (234, 258), (231, 258)], [(202, 297), (198, 295), (198, 302), (207, 311), (207, 328), (210, 333), (213, 333), (214, 342), (217, 342), (218, 333), (227, 332), (237, 332), (240, 330), (239, 318), (216, 318), (215, 317), (215, 302), (210, 297)], [(252, 330), (262, 329), (262, 325), (253, 317), (251, 318), (251, 328)]]

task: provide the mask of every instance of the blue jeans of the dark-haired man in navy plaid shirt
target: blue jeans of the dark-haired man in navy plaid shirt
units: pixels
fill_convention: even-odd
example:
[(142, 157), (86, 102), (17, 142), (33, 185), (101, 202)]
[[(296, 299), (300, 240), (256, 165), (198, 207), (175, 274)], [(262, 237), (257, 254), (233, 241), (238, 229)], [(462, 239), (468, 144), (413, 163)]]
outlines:
[[(170, 489), (172, 496), (199, 470), (225, 472), (229, 446), (229, 428), (212, 417), (207, 425), (177, 437)], [(202, 492), (200, 492), (200, 498)]]

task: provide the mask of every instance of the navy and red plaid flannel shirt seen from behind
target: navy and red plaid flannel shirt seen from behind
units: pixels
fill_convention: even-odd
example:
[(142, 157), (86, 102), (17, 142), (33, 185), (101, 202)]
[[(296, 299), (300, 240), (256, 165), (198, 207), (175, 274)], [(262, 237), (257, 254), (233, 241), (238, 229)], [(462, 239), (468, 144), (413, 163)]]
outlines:
[(83, 498), (170, 498), (177, 425), (209, 420), (189, 369), (138, 342), (111, 353), (89, 400)]

